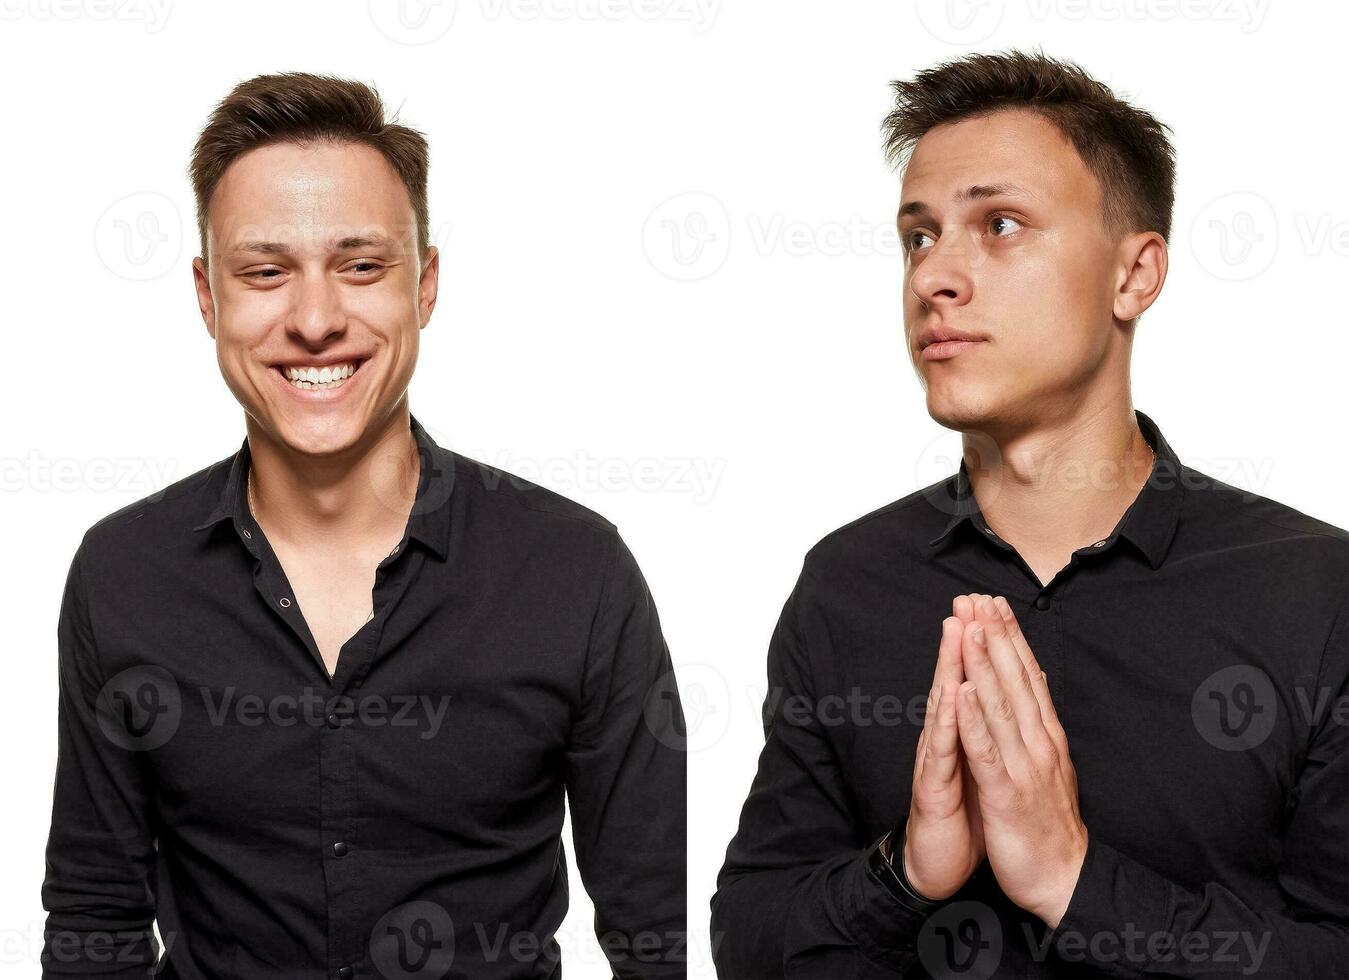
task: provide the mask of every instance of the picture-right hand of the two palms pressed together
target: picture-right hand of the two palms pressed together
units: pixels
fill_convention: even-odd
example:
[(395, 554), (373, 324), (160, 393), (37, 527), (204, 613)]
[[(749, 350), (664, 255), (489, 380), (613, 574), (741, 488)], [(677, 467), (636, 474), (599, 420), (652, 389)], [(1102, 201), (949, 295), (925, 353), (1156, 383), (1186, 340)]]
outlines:
[[(960, 745), (979, 791), (989, 865), (1004, 894), (1051, 929), (1087, 850), (1078, 776), (1044, 671), (1006, 599), (981, 597), (963, 630)], [(966, 692), (973, 688), (973, 692)]]

